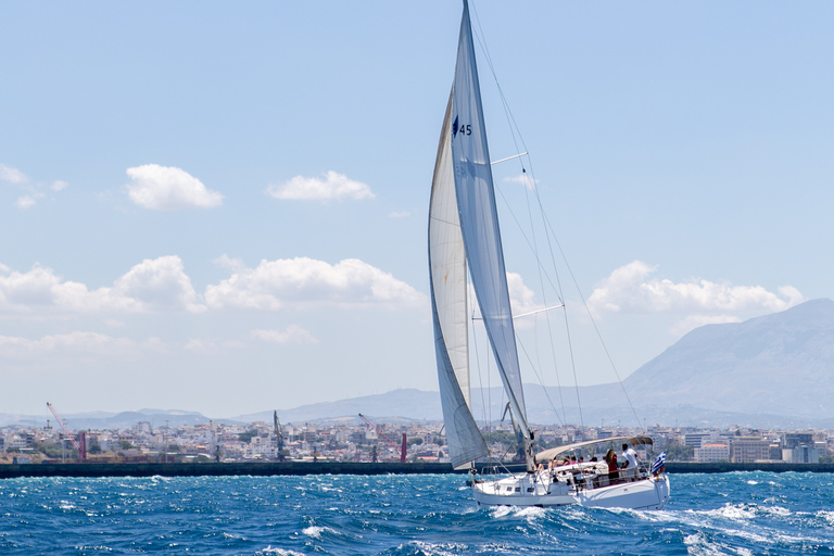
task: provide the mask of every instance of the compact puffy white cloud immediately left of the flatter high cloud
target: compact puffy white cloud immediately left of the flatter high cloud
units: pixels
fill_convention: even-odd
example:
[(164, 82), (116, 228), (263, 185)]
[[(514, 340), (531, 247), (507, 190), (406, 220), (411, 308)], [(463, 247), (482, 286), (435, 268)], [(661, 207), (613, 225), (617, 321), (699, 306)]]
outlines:
[(223, 195), (210, 191), (202, 181), (184, 169), (159, 164), (127, 168), (132, 184), (125, 186), (130, 200), (154, 211), (208, 208), (223, 204)]

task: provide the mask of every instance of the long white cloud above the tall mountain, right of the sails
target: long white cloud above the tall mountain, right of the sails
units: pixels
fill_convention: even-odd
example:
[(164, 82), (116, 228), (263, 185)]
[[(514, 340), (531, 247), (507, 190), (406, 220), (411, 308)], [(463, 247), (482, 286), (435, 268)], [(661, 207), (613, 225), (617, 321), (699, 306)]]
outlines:
[(770, 292), (761, 286), (730, 286), (709, 280), (673, 282), (652, 278), (657, 267), (634, 261), (614, 270), (594, 289), (589, 305), (597, 313), (749, 313), (784, 311), (803, 301), (796, 288)]

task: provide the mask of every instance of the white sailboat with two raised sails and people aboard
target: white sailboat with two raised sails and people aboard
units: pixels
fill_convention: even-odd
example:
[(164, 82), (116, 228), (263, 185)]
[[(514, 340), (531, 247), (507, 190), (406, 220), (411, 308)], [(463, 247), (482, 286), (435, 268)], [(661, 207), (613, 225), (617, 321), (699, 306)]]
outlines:
[[(523, 438), (527, 471), (478, 477), (473, 463), (489, 455), (471, 412), (467, 271), (508, 407)], [(660, 509), (669, 500), (662, 468), (635, 468), (615, 478), (605, 463), (554, 465), (564, 453), (594, 442), (535, 454), (527, 421), (516, 333), (483, 125), (468, 2), (464, 0), (457, 63), (438, 146), (429, 206), (429, 278), (441, 404), (455, 469), (470, 468), (478, 505), (584, 506)], [(632, 445), (650, 439), (615, 438)], [(543, 464), (547, 464), (547, 469)], [(541, 465), (536, 465), (541, 464)]]

